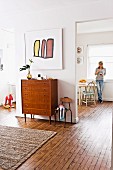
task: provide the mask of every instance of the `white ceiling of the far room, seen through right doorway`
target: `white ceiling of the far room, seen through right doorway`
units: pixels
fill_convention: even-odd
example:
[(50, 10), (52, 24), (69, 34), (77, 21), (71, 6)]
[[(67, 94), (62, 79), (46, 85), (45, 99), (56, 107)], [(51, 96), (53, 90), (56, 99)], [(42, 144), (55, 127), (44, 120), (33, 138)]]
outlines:
[(113, 19), (77, 23), (77, 33), (113, 31)]

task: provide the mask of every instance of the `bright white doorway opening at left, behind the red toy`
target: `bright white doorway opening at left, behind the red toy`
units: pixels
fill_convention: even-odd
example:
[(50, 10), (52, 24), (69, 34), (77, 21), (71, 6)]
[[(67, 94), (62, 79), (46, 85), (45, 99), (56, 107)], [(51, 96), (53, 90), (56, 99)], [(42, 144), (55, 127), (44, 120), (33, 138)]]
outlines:
[(5, 28), (0, 28), (0, 77), (0, 105), (5, 107), (10, 94), (16, 102), (15, 32)]

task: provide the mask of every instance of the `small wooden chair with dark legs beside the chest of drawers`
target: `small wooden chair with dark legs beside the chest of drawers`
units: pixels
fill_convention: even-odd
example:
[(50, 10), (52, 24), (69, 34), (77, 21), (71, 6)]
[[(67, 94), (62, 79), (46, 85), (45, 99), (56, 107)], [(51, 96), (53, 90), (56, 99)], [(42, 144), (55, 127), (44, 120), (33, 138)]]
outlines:
[[(64, 98), (60, 98), (60, 101), (62, 103), (62, 105), (65, 105), (65, 103), (68, 103), (68, 108), (65, 107), (65, 111), (64, 111), (64, 127), (65, 127), (65, 124), (66, 124), (66, 114), (67, 114), (67, 111), (70, 111), (71, 113), (71, 123), (72, 123), (72, 110), (71, 110), (71, 106), (70, 106), (70, 103), (72, 103), (72, 99), (68, 98), (68, 97), (64, 97)], [(59, 121), (60, 121), (60, 108), (57, 108), (55, 110), (55, 123), (56, 123), (56, 114), (59, 113)]]

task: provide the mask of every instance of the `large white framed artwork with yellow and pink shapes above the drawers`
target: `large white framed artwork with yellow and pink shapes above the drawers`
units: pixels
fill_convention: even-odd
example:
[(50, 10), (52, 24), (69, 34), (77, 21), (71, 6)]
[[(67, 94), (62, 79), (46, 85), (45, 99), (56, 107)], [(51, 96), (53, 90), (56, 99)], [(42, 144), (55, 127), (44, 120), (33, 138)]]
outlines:
[(25, 62), (32, 70), (62, 69), (62, 29), (25, 33)]

